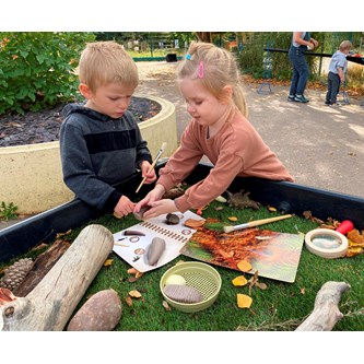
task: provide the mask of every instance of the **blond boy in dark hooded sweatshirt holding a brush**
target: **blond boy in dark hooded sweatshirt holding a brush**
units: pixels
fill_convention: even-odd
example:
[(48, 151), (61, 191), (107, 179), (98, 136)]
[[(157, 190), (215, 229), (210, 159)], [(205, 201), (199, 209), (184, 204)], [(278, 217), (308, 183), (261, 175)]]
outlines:
[(156, 179), (152, 157), (133, 115), (127, 110), (138, 68), (115, 42), (87, 44), (79, 63), (85, 104), (69, 104), (60, 128), (64, 184), (84, 202), (121, 218), (134, 203), (113, 187), (140, 167), (145, 184)]

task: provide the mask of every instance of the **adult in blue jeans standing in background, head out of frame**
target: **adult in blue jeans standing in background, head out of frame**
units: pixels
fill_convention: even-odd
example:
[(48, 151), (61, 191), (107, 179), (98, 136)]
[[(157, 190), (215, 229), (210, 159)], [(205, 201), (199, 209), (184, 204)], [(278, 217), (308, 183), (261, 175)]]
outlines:
[(293, 32), (289, 57), (293, 66), (293, 74), (289, 94), (289, 102), (308, 103), (305, 97), (309, 77), (306, 51), (318, 47), (318, 42), (310, 37), (309, 32)]

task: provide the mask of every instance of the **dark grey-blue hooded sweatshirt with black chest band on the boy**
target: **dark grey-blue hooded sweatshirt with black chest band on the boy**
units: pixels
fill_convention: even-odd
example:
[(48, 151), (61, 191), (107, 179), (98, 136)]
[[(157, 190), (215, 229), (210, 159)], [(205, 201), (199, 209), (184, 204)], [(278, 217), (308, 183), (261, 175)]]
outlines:
[(136, 118), (113, 119), (81, 104), (69, 104), (60, 128), (64, 184), (84, 202), (114, 211), (122, 193), (113, 185), (130, 177), (142, 161), (152, 163)]

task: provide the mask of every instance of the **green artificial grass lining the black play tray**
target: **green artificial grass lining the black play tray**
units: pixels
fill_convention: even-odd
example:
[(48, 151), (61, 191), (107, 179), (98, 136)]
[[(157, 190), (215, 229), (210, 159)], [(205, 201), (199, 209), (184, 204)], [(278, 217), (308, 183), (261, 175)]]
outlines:
[[(221, 206), (213, 202), (203, 211), (204, 218), (215, 218), (228, 222), (228, 216), (237, 216), (237, 223), (250, 220), (266, 219), (278, 213), (269, 212), (266, 208), (258, 211), (251, 209), (236, 210), (223, 204), (223, 210), (214, 208)], [(334, 216), (333, 216), (334, 218)], [(101, 224), (113, 234), (137, 224), (132, 216), (121, 220), (113, 215), (105, 215), (89, 224)], [(74, 230), (70, 239), (74, 239), (81, 230)], [(261, 228), (292, 233), (307, 233), (317, 224), (301, 216), (293, 216), (260, 226)], [(248, 286), (236, 287), (232, 280), (240, 272), (214, 266), (222, 278), (222, 289), (216, 302), (209, 308), (187, 314), (176, 309), (166, 310), (162, 305), (163, 296), (160, 292), (160, 280), (163, 273), (177, 261), (192, 259), (179, 256), (166, 266), (144, 273), (136, 282), (129, 282), (130, 266), (119, 256), (111, 253), (109, 258), (113, 263), (103, 267), (86, 294), (79, 303), (79, 307), (86, 298), (102, 290), (114, 289), (122, 302), (122, 316), (115, 328), (116, 331), (235, 331), (235, 330), (294, 330), (314, 308), (316, 295), (327, 281), (347, 282), (351, 290), (343, 294), (339, 308), (344, 317), (334, 326), (334, 331), (359, 331), (364, 329), (364, 255), (351, 258), (325, 259), (310, 254), (304, 246), (294, 283), (285, 283), (271, 279), (259, 278), (260, 282), (268, 285), (267, 290), (254, 287), (251, 290), (253, 305), (249, 309), (237, 307), (236, 294), (248, 294)], [(251, 274), (244, 274), (247, 279)], [(132, 306), (126, 304), (125, 298), (129, 291), (138, 290), (142, 298), (132, 300)]]

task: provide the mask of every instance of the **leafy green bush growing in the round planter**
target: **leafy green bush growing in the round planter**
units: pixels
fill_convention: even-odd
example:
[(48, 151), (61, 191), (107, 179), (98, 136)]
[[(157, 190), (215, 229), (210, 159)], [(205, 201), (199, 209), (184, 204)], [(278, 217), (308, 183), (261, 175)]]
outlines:
[(93, 33), (0, 33), (0, 115), (37, 111), (74, 99), (78, 66)]

